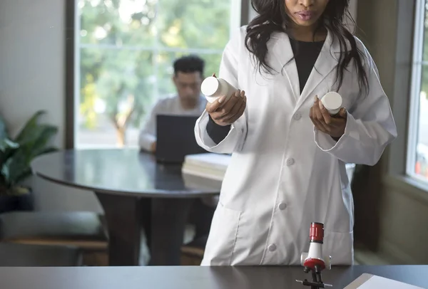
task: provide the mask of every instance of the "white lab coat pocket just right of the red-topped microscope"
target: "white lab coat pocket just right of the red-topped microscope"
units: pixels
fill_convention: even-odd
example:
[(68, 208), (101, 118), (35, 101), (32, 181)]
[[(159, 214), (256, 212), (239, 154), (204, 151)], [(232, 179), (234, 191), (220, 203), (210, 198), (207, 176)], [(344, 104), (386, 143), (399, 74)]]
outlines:
[(332, 257), (332, 266), (353, 265), (354, 263), (354, 232), (337, 233), (325, 231), (322, 253)]

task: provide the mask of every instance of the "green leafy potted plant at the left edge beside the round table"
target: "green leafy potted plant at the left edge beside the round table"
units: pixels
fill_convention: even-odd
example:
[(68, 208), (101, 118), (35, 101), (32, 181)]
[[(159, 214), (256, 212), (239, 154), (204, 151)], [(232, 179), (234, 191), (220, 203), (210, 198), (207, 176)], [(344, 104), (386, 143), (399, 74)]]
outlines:
[(31, 176), (31, 161), (40, 154), (57, 150), (50, 142), (58, 128), (39, 123), (45, 113), (36, 112), (14, 139), (0, 117), (0, 213), (34, 209), (31, 188), (23, 184)]

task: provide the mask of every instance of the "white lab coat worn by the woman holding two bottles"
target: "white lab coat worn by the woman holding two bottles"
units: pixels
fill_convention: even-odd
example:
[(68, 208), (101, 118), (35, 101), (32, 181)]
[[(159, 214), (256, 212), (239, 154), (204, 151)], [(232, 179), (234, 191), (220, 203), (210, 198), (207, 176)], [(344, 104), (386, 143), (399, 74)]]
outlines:
[[(233, 153), (213, 216), (202, 265), (297, 265), (309, 248), (311, 222), (325, 224), (323, 251), (332, 265), (353, 263), (354, 204), (345, 163), (374, 165), (397, 137), (377, 68), (362, 50), (370, 94), (358, 96), (350, 65), (339, 93), (347, 108), (338, 142), (315, 130), (314, 96), (334, 90), (340, 46), (328, 33), (300, 95), (290, 40), (273, 33), (267, 61), (280, 72), (260, 74), (244, 45), (245, 26), (225, 47), (219, 77), (245, 90), (245, 113), (219, 144), (208, 136), (208, 112), (195, 137), (210, 152)], [(290, 62), (289, 62), (290, 61)], [(282, 69), (283, 68), (283, 69)], [(282, 73), (281, 73), (282, 69)]]

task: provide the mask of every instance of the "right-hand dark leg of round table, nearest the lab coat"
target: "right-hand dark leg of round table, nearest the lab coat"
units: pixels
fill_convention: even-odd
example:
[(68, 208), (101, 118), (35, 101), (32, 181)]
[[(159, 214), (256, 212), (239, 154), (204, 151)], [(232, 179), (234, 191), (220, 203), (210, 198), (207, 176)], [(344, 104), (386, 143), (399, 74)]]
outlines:
[(194, 199), (152, 199), (150, 265), (180, 265), (185, 224), (193, 201)]

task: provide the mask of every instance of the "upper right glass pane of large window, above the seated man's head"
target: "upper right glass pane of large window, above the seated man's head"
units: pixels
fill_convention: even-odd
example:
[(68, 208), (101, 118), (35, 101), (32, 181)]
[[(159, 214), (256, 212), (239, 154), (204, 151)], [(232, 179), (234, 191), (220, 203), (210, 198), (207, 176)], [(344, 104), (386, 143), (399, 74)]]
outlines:
[(159, 1), (159, 42), (165, 47), (223, 50), (229, 39), (231, 1), (235, 0)]

